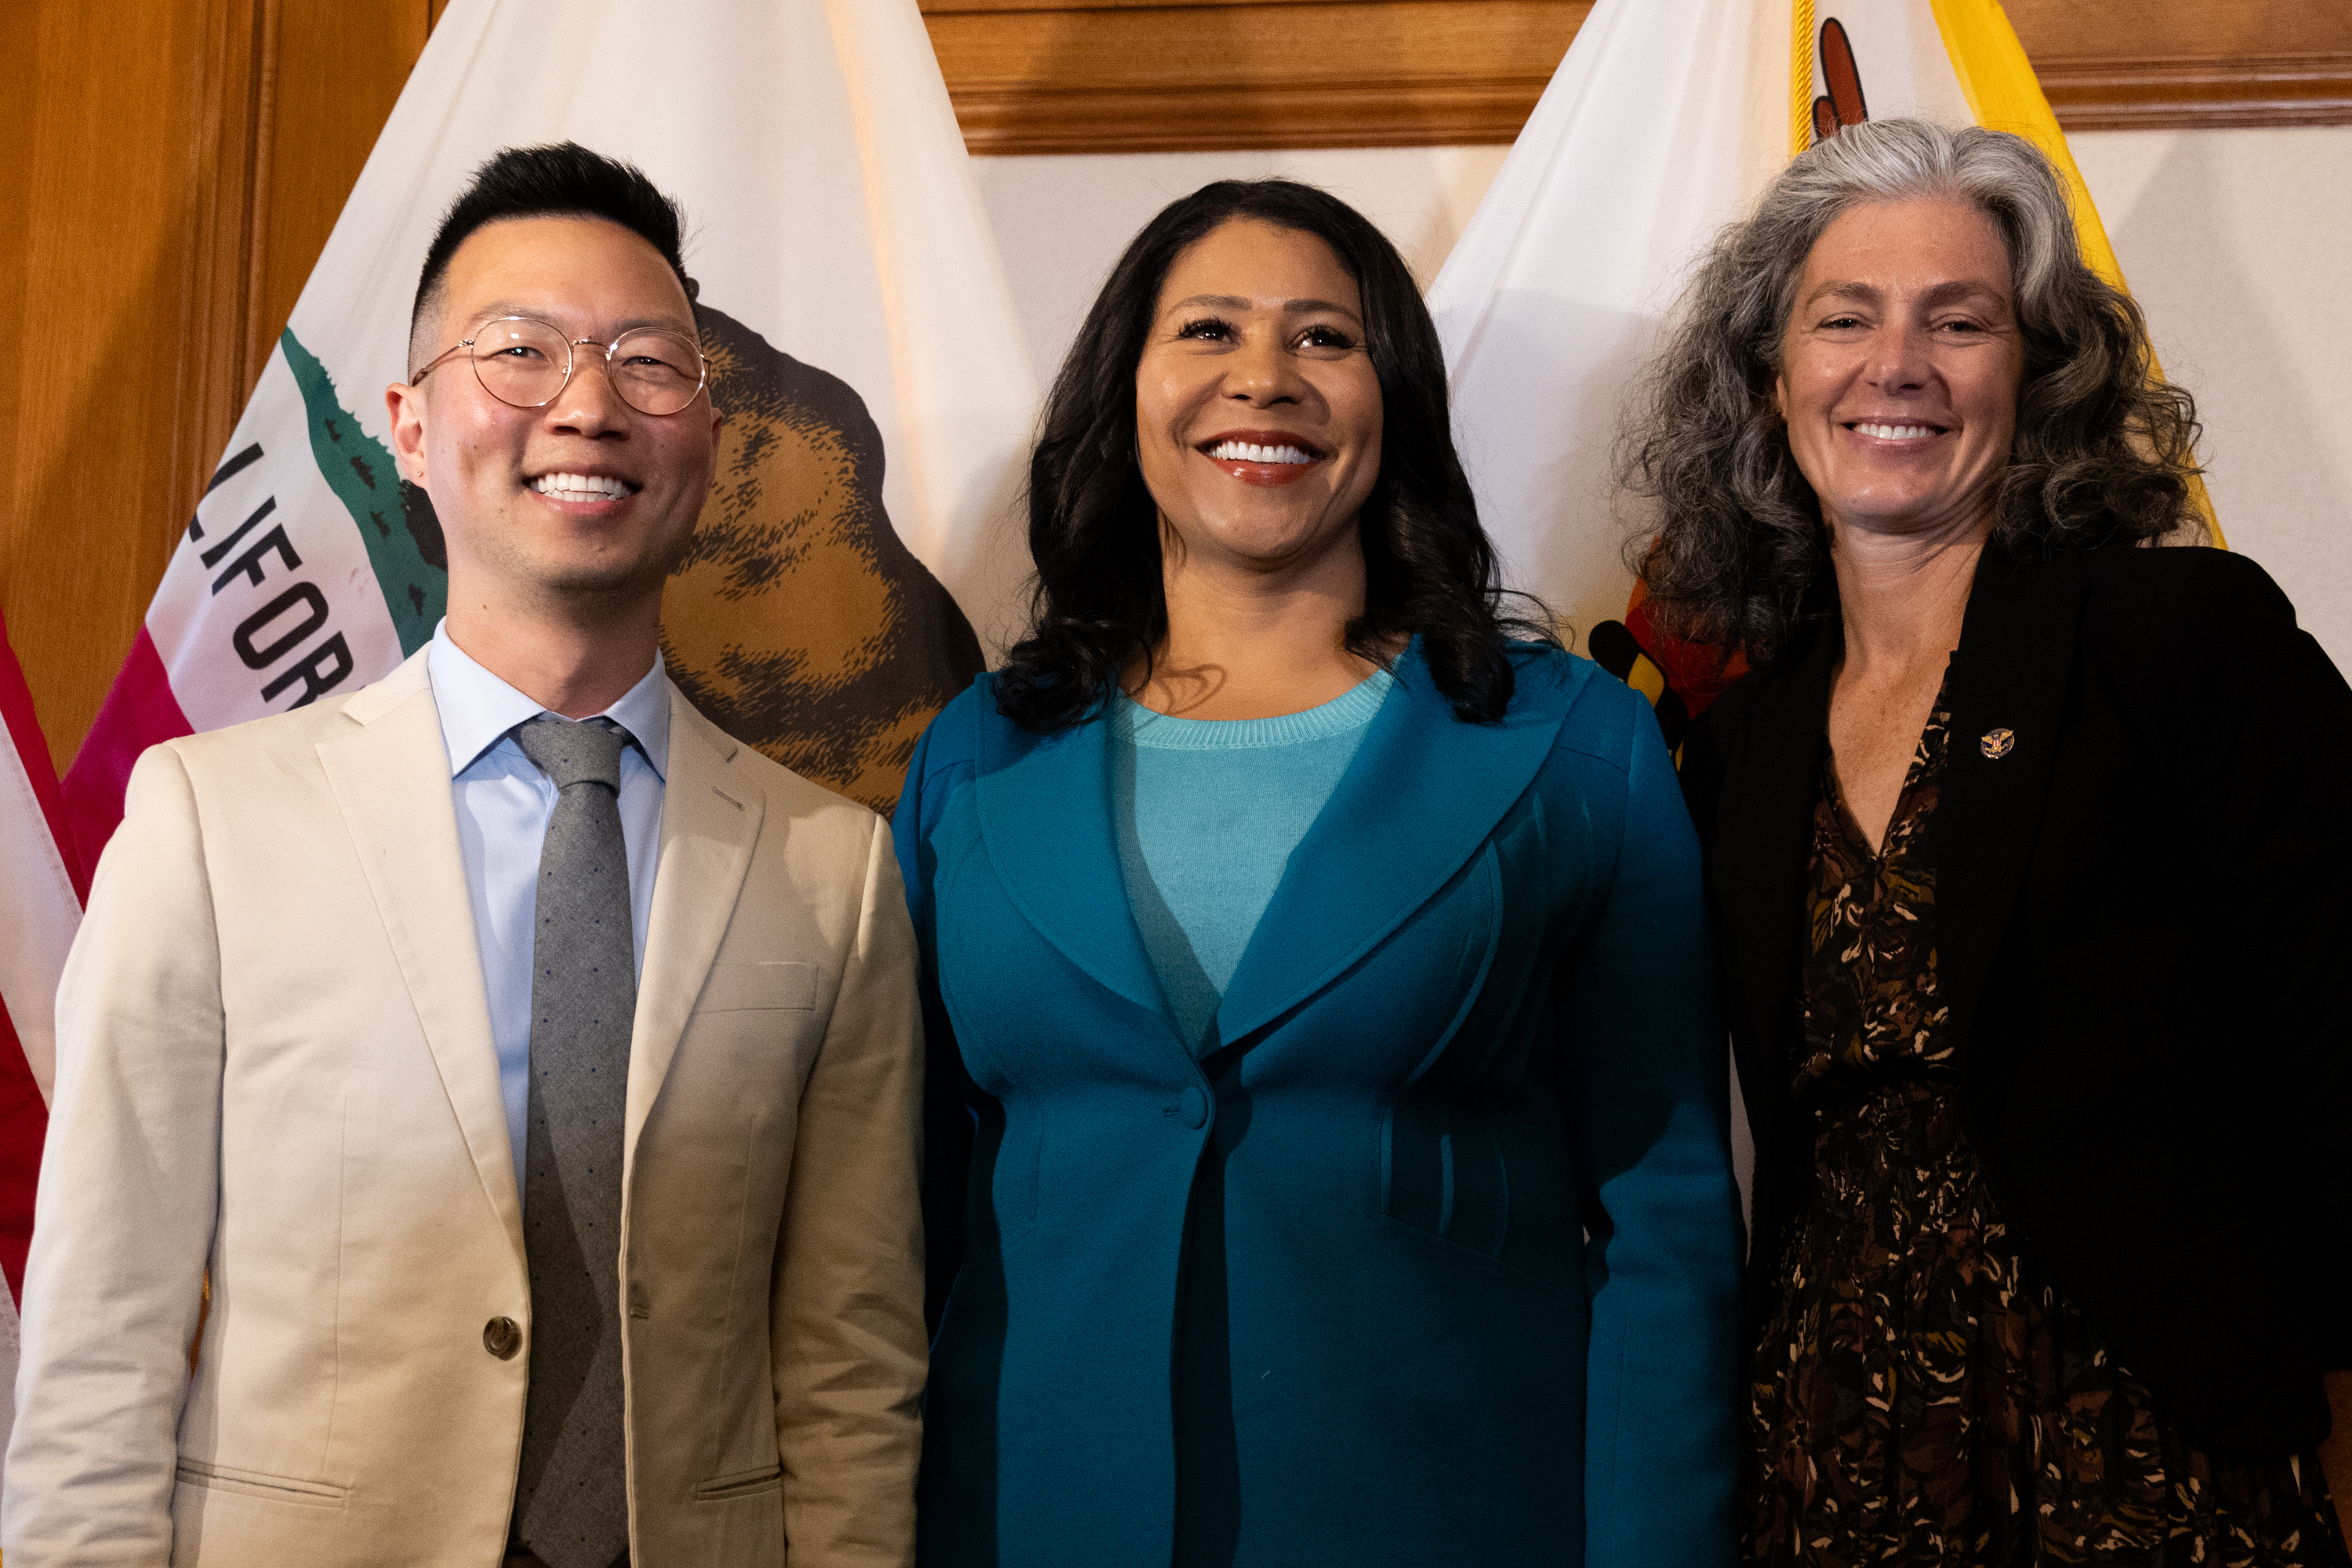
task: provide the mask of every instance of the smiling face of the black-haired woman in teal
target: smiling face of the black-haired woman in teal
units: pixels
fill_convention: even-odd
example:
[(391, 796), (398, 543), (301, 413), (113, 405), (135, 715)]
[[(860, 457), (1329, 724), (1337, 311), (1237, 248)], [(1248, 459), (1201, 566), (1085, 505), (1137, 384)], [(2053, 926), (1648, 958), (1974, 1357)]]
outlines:
[(1357, 548), (1381, 378), (1329, 244), (1228, 219), (1176, 256), (1136, 364), (1136, 449), (1192, 564), (1282, 571)]

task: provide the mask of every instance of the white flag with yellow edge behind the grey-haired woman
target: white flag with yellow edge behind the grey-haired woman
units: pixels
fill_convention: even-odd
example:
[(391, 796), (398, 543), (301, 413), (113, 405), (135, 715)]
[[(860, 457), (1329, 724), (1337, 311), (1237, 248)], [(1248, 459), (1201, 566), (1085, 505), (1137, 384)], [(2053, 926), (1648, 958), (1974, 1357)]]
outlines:
[[(1625, 538), (1646, 520), (1609, 461), (1628, 395), (1715, 233), (1813, 141), (1896, 115), (2039, 146), (2084, 261), (2122, 287), (1997, 0), (1599, 0), (1430, 287), (1510, 583), (1658, 703), (1668, 743), (1726, 672), (1642, 616)], [(2211, 520), (2201, 484), (2197, 505)]]

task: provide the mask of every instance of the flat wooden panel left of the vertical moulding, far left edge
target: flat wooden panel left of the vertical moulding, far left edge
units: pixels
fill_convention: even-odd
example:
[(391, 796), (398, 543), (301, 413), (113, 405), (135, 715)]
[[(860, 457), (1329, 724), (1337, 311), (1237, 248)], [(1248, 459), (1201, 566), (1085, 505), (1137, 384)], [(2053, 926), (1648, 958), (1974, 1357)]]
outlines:
[[(191, 270), (216, 7), (120, 14), (38, 0), (14, 31), (0, 179), (0, 602), (59, 762), (71, 757), (193, 503)], [(103, 61), (103, 71), (92, 68)], [(202, 61), (205, 68), (191, 68)]]

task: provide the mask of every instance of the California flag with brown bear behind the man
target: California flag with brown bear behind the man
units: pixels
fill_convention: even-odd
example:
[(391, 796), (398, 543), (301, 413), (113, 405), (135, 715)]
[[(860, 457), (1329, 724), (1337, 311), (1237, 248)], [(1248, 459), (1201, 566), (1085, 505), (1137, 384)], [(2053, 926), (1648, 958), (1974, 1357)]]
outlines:
[(915, 0), (454, 0), (360, 174), (66, 773), (89, 860), (155, 741), (341, 696), (442, 616), (383, 386), (442, 212), (506, 146), (579, 141), (687, 209), (724, 411), (663, 599), (720, 726), (887, 809), (1016, 623), (1035, 371)]

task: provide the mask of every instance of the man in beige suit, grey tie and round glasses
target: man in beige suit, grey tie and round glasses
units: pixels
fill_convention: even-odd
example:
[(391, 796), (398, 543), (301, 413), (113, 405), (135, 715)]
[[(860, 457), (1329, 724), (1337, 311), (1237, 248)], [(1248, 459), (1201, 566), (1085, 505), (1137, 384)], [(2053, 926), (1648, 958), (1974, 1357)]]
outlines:
[(720, 425), (675, 209), (501, 153), (412, 364), (440, 635), (151, 750), (99, 867), (0, 1549), (910, 1563), (913, 936), (887, 825), (656, 658)]

